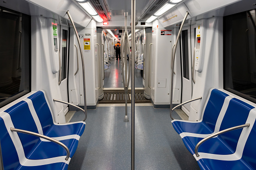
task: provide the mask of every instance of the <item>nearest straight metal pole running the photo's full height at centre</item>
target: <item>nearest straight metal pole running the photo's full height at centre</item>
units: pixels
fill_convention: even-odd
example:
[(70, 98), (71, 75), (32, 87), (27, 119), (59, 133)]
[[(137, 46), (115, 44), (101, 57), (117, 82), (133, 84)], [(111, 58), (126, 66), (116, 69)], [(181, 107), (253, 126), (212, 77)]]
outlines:
[(131, 131), (131, 169), (134, 170), (134, 142), (135, 142), (135, 135), (134, 135), (134, 123), (135, 123), (135, 76), (134, 76), (134, 72), (135, 72), (135, 67), (134, 67), (134, 59), (135, 59), (135, 0), (131, 0), (132, 1), (132, 21), (131, 21), (131, 25), (132, 25), (132, 61), (131, 61), (131, 67), (132, 67), (132, 87), (131, 87), (131, 118), (132, 118), (132, 131)]

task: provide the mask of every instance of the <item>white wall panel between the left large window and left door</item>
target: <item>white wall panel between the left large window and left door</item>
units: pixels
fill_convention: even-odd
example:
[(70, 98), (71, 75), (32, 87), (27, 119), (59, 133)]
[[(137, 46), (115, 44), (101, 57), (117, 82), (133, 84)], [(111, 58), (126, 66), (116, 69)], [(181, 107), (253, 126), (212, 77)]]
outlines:
[(62, 104), (53, 102), (53, 99), (61, 100), (61, 93), (58, 85), (59, 74), (53, 73), (51, 67), (54, 46), (53, 35), (50, 34), (52, 25), (49, 22), (50, 20), (43, 17), (31, 17), (31, 90), (44, 90), (55, 122), (64, 123)]

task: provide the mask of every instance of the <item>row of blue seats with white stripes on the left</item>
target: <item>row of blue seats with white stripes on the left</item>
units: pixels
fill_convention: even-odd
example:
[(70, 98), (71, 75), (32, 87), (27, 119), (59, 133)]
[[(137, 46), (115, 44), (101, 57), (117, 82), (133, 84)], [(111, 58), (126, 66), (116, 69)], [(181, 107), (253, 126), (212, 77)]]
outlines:
[[(38, 91), (0, 113), (0, 127), (4, 129), (0, 139), (5, 169), (67, 169), (85, 123), (56, 124), (44, 92)], [(12, 132), (10, 127), (61, 141), (70, 151), (69, 159), (65, 160), (66, 150), (62, 146), (33, 135)]]

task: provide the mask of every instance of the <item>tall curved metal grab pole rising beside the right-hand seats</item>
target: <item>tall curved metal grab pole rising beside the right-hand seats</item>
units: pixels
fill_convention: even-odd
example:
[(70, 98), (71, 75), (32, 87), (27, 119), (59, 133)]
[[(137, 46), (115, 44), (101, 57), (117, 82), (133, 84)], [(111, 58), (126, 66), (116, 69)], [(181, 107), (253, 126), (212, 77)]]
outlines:
[(172, 118), (172, 112), (173, 112), (173, 89), (174, 89), (174, 60), (175, 60), (175, 53), (176, 53), (176, 49), (177, 49), (177, 44), (178, 44), (178, 41), (179, 41), (179, 38), (181, 36), (181, 32), (182, 32), (182, 28), (184, 26), (184, 23), (187, 19), (189, 15), (189, 12), (186, 13), (183, 21), (182, 21), (182, 25), (181, 25), (181, 28), (179, 30), (179, 33), (178, 33), (178, 36), (177, 36), (177, 39), (176, 39), (176, 42), (175, 42), (175, 47), (174, 47), (174, 52), (172, 54), (172, 60), (171, 60), (171, 69), (172, 69), (172, 77), (171, 77), (171, 81), (170, 81), (170, 117)]

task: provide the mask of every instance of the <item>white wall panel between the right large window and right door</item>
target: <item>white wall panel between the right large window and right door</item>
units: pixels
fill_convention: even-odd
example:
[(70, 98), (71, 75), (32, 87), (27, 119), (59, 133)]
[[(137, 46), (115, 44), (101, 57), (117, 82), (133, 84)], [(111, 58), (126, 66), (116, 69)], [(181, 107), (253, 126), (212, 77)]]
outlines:
[(197, 25), (202, 22), (204, 31), (201, 35), (200, 55), (203, 58), (203, 65), (201, 72), (195, 72), (196, 83), (192, 95), (192, 98), (202, 97), (202, 100), (191, 103), (194, 111), (190, 112), (189, 120), (200, 120), (211, 88), (223, 88), (223, 18), (198, 21)]

